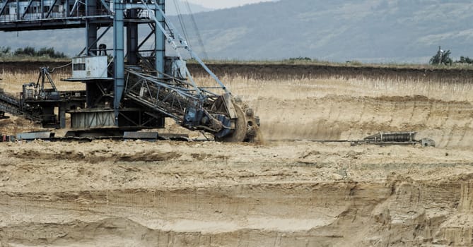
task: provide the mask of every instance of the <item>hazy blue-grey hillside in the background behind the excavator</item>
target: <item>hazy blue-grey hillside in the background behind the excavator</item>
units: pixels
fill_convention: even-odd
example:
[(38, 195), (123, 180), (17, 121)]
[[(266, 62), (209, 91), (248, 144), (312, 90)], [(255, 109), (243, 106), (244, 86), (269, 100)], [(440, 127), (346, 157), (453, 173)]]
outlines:
[[(454, 59), (473, 56), (471, 0), (281, 0), (197, 12), (194, 18), (210, 59), (307, 56), (324, 61), (427, 63), (438, 46), (450, 49)], [(190, 43), (202, 54), (189, 16), (183, 18)], [(179, 24), (177, 17), (172, 20)], [(73, 55), (83, 47), (76, 42), (83, 33), (19, 32), (0, 37), (2, 46), (54, 46)]]

